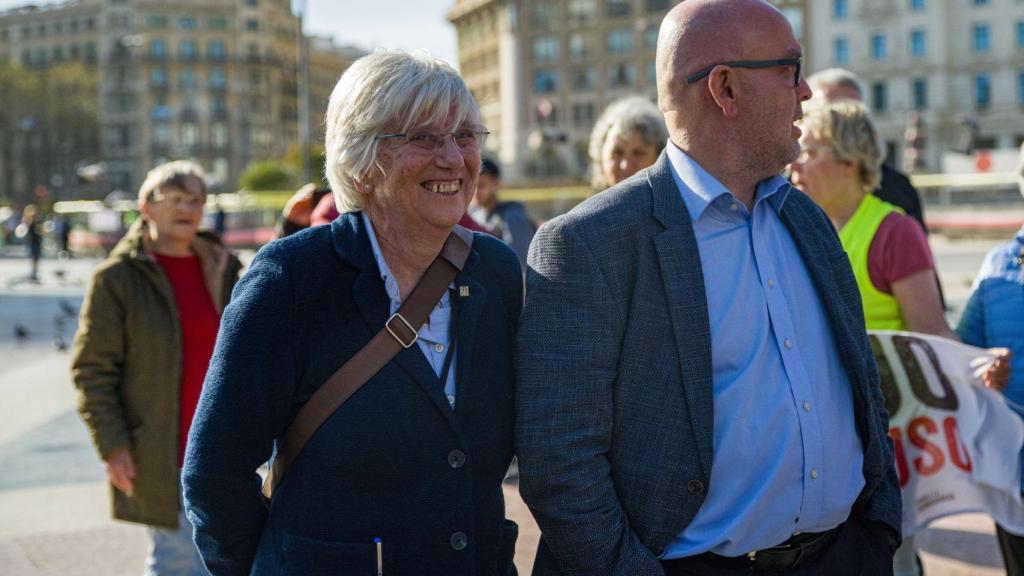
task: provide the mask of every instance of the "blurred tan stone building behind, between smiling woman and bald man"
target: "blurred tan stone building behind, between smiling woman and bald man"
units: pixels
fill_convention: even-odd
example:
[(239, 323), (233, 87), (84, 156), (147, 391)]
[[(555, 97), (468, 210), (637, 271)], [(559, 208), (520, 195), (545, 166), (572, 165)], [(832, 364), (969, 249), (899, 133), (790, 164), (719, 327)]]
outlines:
[[(809, 0), (775, 3), (806, 44)], [(656, 99), (654, 51), (679, 0), (456, 0), (459, 66), (518, 182), (580, 181), (595, 120), (628, 95)], [(507, 174), (507, 175), (506, 175)]]

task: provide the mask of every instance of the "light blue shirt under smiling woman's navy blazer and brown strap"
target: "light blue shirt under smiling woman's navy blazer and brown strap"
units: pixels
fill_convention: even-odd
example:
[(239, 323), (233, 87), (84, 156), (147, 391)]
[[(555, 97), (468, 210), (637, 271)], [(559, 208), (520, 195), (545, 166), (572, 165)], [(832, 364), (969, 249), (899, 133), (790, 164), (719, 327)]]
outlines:
[[(370, 236), (370, 247), (374, 251), (377, 268), (381, 271), (384, 290), (387, 292), (388, 299), (391, 300), (390, 314), (394, 314), (401, 306), (401, 292), (398, 290), (398, 282), (391, 276), (391, 271), (388, 270), (387, 262), (384, 261), (380, 244), (377, 243), (377, 234), (374, 232), (374, 224), (370, 221), (366, 212), (362, 213), (362, 222), (367, 225), (367, 235)], [(440, 301), (437, 302), (434, 310), (430, 311), (430, 317), (420, 327), (420, 337), (416, 340), (423, 356), (427, 358), (427, 362), (433, 368), (434, 375), (438, 378), (444, 367), (444, 356), (449, 352), (449, 334), (451, 333), (449, 327), (452, 322), (452, 299), (449, 294), (450, 292), (445, 290)], [(455, 355), (456, 352), (452, 351), (452, 366), (449, 369), (447, 380), (444, 382), (444, 396), (447, 397), (449, 406), (452, 407), (452, 410), (455, 410), (455, 367), (457, 360)]]

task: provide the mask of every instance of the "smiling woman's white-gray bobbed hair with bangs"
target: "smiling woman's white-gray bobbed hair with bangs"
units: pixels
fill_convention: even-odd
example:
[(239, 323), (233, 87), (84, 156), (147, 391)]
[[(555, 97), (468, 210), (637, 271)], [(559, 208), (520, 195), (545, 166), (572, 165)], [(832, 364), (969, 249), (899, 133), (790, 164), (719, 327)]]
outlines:
[[(447, 122), (446, 126), (442, 123)], [(423, 126), (479, 124), (480, 111), (459, 73), (426, 52), (380, 51), (342, 74), (327, 107), (325, 172), (339, 212), (361, 210), (356, 189), (377, 161), (377, 136)]]

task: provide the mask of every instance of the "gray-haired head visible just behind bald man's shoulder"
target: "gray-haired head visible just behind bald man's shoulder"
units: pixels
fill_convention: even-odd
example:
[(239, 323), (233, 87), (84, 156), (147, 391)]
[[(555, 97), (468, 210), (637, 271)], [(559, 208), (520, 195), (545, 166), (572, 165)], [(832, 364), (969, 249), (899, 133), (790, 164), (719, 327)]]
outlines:
[(668, 139), (665, 118), (647, 98), (611, 102), (590, 133), (591, 189), (601, 192), (650, 166)]

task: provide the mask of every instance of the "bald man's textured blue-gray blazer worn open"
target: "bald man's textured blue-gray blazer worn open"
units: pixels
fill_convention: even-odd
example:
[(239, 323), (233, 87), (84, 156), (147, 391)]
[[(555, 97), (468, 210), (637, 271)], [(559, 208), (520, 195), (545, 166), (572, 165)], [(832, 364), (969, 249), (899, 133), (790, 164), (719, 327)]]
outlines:
[[(850, 261), (793, 191), (781, 212), (821, 295), (864, 447), (859, 518), (896, 533), (900, 492)], [(517, 338), (520, 489), (535, 574), (662, 574), (712, 482), (711, 335), (689, 213), (668, 157), (545, 224)]]

